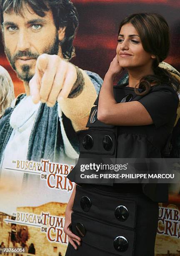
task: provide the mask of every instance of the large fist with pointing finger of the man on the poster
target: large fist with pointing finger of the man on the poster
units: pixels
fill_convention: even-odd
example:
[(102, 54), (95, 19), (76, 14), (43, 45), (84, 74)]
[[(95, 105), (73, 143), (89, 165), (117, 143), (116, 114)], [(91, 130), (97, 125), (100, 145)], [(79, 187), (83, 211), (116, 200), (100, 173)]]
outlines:
[(77, 79), (75, 67), (57, 55), (42, 54), (37, 58), (35, 75), (29, 82), (34, 103), (53, 107), (61, 97), (67, 98)]

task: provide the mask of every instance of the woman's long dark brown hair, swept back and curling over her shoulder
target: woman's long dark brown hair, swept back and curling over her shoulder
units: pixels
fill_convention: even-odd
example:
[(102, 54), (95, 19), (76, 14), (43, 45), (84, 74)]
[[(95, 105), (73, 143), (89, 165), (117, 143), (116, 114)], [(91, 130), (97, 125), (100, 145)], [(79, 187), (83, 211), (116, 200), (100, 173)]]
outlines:
[[(140, 79), (140, 83), (135, 86), (137, 95), (146, 95), (151, 88), (151, 84), (169, 84), (176, 92), (180, 91), (178, 79), (173, 77), (170, 72), (158, 67), (159, 63), (167, 56), (170, 48), (170, 32), (166, 20), (156, 13), (135, 13), (128, 15), (120, 23), (118, 35), (123, 25), (131, 23), (140, 35), (143, 49), (156, 56), (153, 61), (153, 75), (146, 75)], [(143, 89), (138, 92), (136, 88)]]

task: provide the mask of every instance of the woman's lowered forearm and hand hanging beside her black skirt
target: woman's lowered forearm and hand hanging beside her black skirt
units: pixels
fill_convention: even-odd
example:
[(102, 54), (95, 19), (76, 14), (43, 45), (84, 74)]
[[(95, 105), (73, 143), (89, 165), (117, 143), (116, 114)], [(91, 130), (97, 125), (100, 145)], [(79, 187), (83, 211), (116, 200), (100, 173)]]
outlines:
[(65, 210), (65, 225), (64, 225), (63, 230), (67, 234), (70, 244), (75, 248), (75, 250), (77, 250), (77, 246), (74, 243), (74, 241), (80, 246), (81, 238), (76, 236), (75, 234), (73, 234), (72, 231), (70, 230), (71, 214), (72, 214), (72, 206), (73, 206), (74, 198), (75, 198), (75, 190), (76, 190), (76, 184), (75, 184), (75, 187), (72, 191), (70, 200), (67, 203), (67, 207), (66, 207), (66, 210)]

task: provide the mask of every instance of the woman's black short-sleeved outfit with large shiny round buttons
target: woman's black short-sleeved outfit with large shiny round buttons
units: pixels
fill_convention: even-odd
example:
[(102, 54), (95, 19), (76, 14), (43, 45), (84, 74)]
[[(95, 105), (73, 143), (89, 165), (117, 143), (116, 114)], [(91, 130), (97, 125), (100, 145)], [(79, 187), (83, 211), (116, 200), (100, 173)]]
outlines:
[[(114, 86), (117, 103), (138, 100), (153, 124), (107, 125), (97, 120), (98, 97), (86, 127), (77, 132), (80, 158), (161, 158), (175, 123), (179, 98), (168, 84), (155, 85), (145, 96), (127, 84)], [(138, 89), (141, 91), (141, 89)], [(154, 256), (158, 202), (168, 201), (168, 184), (80, 184), (77, 166), (67, 176), (77, 183), (72, 232), (82, 238), (66, 256)]]

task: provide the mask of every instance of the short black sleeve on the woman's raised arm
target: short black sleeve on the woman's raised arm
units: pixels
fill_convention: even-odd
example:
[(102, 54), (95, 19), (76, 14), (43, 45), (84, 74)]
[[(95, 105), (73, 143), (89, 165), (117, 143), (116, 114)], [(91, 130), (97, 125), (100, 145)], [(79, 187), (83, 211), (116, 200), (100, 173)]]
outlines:
[(175, 121), (179, 98), (173, 87), (158, 85), (138, 100), (150, 114), (156, 128)]

